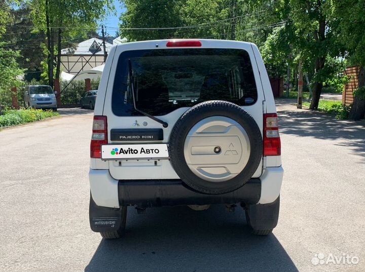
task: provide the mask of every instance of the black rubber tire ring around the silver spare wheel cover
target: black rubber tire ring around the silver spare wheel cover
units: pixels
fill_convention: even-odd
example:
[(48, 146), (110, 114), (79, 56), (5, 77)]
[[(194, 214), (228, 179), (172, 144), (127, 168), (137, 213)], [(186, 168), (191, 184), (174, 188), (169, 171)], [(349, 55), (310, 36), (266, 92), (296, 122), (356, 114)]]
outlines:
[[(196, 176), (184, 156), (185, 139), (191, 128), (211, 116), (225, 116), (236, 121), (246, 131), (250, 144), (250, 155), (244, 169), (237, 176), (223, 182), (211, 182)], [(259, 167), (263, 154), (262, 134), (252, 116), (240, 106), (228, 101), (206, 101), (190, 108), (176, 122), (170, 135), (169, 153), (172, 167), (188, 186), (212, 195), (226, 193), (243, 186)]]

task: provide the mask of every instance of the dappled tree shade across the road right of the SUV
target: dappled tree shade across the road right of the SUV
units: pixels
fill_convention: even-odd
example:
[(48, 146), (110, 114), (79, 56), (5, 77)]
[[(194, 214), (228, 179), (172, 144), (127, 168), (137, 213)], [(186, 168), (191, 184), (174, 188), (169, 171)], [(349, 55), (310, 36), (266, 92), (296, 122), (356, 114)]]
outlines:
[(365, 156), (365, 122), (336, 120), (333, 115), (317, 111), (283, 110), (278, 112), (280, 133), (318, 139), (338, 140), (336, 145), (350, 147)]

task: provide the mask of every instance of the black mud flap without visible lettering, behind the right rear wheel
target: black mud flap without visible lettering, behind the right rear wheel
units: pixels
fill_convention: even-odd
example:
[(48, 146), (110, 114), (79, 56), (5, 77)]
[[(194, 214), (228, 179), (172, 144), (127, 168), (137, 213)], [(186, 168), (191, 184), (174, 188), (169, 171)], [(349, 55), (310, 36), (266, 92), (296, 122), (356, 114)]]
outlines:
[(272, 203), (248, 205), (248, 224), (255, 230), (272, 229), (279, 219), (280, 196)]

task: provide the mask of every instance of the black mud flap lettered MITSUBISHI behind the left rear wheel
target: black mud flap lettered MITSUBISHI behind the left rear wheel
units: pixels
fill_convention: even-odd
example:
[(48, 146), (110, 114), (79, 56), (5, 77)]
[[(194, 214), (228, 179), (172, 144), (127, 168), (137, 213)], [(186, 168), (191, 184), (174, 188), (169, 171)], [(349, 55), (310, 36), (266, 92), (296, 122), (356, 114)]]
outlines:
[(89, 220), (95, 232), (117, 231), (122, 223), (121, 209), (97, 206), (90, 193)]

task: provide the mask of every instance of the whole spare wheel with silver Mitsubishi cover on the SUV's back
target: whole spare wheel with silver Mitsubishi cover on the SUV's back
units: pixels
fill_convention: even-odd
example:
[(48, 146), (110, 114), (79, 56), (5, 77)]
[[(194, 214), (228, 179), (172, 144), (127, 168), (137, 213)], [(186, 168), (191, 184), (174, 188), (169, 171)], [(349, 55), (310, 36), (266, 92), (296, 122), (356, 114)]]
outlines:
[(172, 167), (191, 188), (220, 194), (243, 186), (260, 165), (261, 131), (240, 106), (206, 101), (187, 110), (169, 141)]

